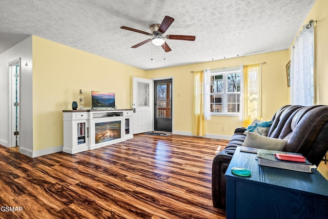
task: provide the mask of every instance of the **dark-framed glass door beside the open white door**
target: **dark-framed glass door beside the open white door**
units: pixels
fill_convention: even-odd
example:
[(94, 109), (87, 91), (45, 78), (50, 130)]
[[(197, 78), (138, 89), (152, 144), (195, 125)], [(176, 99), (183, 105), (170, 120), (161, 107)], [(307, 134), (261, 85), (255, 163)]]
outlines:
[(154, 81), (154, 131), (172, 132), (172, 78)]

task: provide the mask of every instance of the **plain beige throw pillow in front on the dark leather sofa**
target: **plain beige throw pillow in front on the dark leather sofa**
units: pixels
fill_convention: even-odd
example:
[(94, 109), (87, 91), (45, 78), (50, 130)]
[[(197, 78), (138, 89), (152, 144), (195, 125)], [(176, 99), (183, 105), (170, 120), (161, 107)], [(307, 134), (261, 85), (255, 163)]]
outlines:
[(267, 150), (282, 151), (288, 140), (271, 138), (248, 132), (242, 146)]

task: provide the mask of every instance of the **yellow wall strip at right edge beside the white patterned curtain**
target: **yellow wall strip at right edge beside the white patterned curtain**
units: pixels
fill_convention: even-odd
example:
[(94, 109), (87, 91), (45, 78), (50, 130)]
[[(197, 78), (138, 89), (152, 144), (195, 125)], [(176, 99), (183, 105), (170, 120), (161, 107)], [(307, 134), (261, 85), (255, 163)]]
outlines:
[(328, 1), (317, 0), (304, 24), (311, 19), (317, 21), (315, 24), (315, 83), (316, 104), (328, 105)]

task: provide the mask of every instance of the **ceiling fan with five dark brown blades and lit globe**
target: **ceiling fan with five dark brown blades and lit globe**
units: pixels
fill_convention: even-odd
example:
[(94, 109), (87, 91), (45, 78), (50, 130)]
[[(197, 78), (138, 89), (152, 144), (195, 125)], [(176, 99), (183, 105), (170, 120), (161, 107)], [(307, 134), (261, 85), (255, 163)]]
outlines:
[(137, 33), (142, 33), (142, 34), (146, 34), (149, 36), (153, 36), (153, 38), (146, 39), (146, 41), (138, 43), (138, 44), (132, 46), (131, 48), (137, 48), (137, 47), (142, 46), (151, 41), (155, 46), (161, 46), (165, 50), (165, 52), (170, 52), (171, 48), (165, 42), (165, 39), (180, 39), (182, 41), (194, 41), (196, 38), (196, 36), (188, 36), (188, 35), (163, 36), (163, 34), (170, 27), (170, 25), (173, 23), (173, 21), (174, 21), (174, 18), (165, 16), (161, 24), (153, 24), (149, 27), (151, 33), (148, 33), (148, 32), (142, 31), (142, 30), (133, 29), (133, 28), (126, 27), (126, 26), (122, 26), (121, 29), (130, 30), (130, 31), (134, 31)]

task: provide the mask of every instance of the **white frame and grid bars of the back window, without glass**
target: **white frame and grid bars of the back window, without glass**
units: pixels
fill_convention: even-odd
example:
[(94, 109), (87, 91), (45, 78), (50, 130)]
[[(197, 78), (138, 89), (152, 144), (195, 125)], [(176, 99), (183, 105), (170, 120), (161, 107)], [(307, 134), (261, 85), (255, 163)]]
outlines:
[[(240, 74), (240, 91), (235, 91), (235, 92), (228, 92), (228, 79), (227, 75), (228, 74), (233, 74), (233, 73), (239, 73)], [(217, 70), (211, 70), (210, 77), (211, 77), (211, 86), (214, 86), (214, 83), (212, 84), (212, 77), (216, 75), (222, 75), (222, 81), (223, 81), (223, 90), (222, 92), (212, 92), (213, 90), (211, 89), (210, 92), (210, 105), (212, 106), (214, 102), (211, 101), (212, 95), (215, 94), (221, 94), (222, 95), (222, 112), (212, 112), (211, 110), (211, 115), (218, 115), (218, 116), (239, 116), (240, 115), (240, 106), (241, 106), (241, 95), (242, 95), (242, 90), (241, 90), (241, 83), (242, 83), (242, 72), (241, 72), (241, 67), (232, 67), (232, 68), (222, 68), (222, 69), (217, 69)], [(239, 102), (235, 103), (229, 103), (228, 102), (228, 94), (239, 94)], [(239, 112), (228, 112), (228, 104), (237, 104), (239, 103)], [(211, 107), (210, 107), (211, 108)]]

